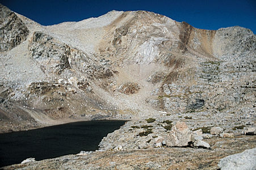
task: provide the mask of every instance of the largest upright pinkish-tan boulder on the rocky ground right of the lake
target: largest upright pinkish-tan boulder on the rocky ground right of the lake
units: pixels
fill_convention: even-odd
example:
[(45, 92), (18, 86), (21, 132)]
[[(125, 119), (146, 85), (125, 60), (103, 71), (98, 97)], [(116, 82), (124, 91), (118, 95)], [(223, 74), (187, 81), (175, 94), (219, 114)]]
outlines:
[(167, 134), (166, 146), (188, 146), (192, 141), (192, 131), (185, 122), (177, 122)]

